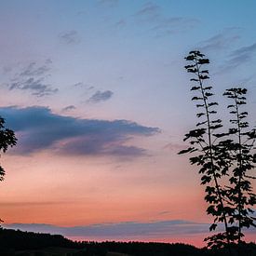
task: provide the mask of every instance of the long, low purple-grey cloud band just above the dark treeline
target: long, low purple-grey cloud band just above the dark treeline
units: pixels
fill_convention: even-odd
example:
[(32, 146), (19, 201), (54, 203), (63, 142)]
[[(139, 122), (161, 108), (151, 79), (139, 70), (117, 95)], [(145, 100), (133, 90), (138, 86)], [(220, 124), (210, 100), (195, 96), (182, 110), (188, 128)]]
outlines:
[(116, 222), (100, 223), (73, 227), (60, 227), (49, 224), (22, 224), (4, 225), (6, 228), (20, 229), (21, 231), (61, 234), (62, 236), (95, 237), (100, 239), (140, 239), (143, 237), (171, 237), (195, 234), (207, 234), (209, 223), (170, 220), (161, 222)]

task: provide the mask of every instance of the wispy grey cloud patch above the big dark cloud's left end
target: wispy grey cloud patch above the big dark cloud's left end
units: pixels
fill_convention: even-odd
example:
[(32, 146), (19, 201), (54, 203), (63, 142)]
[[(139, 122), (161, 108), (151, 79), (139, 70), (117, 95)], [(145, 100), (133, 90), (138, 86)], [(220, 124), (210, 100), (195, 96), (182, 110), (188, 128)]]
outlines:
[(30, 91), (32, 95), (43, 97), (58, 92), (58, 88), (52, 88), (46, 83), (46, 78), (49, 76), (51, 61), (47, 60), (43, 65), (38, 65), (36, 62), (30, 62), (26, 67), (21, 69), (7, 83), (9, 90), (19, 89)]

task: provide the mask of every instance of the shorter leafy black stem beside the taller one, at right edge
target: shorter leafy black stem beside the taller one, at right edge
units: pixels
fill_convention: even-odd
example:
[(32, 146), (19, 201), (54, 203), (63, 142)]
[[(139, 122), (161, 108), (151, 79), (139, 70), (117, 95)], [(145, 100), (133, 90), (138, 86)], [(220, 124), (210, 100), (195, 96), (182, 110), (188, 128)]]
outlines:
[(254, 142), (256, 140), (255, 128), (249, 128), (249, 122), (246, 121), (248, 112), (243, 111), (243, 105), (246, 104), (246, 88), (230, 88), (223, 93), (232, 104), (228, 105), (232, 119), (225, 136), (229, 136), (226, 149), (230, 152), (230, 161), (232, 163), (232, 175), (229, 178), (229, 200), (234, 208), (232, 222), (236, 222), (234, 233), (236, 234), (238, 243), (244, 236), (242, 229), (250, 226), (256, 227), (251, 213), (251, 207), (256, 204), (256, 195), (252, 191), (251, 180), (256, 179), (251, 170), (254, 168), (255, 154), (253, 154)]

